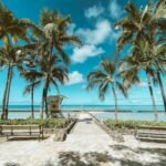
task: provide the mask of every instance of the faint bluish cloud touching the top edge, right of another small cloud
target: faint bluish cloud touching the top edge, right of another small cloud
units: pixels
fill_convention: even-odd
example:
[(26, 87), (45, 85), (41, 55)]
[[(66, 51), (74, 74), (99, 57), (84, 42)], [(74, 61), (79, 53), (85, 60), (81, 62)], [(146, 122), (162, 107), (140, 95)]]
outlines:
[(111, 0), (108, 10), (113, 19), (120, 19), (122, 14), (124, 13), (124, 10), (117, 3), (117, 0)]

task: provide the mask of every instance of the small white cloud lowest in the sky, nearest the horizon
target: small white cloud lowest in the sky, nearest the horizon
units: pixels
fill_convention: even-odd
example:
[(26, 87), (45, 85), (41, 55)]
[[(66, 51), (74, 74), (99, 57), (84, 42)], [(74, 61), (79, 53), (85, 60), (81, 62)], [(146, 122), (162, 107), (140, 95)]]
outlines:
[(69, 81), (65, 83), (66, 85), (77, 84), (83, 82), (83, 74), (77, 71), (73, 71), (69, 73)]

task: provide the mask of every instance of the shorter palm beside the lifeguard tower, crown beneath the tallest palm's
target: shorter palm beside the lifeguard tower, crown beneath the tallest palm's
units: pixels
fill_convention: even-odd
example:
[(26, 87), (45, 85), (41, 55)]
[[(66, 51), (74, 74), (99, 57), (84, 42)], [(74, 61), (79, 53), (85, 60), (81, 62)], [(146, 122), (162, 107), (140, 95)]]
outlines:
[(43, 110), (45, 105), (45, 115), (49, 116), (48, 113), (48, 91), (51, 84), (54, 85), (58, 93), (59, 83), (64, 84), (68, 80), (68, 70), (62, 60), (53, 54), (50, 59), (48, 59), (49, 52), (43, 54), (43, 58), (39, 58), (37, 60), (37, 71), (42, 75), (42, 80), (44, 82), (43, 93), (42, 93), (42, 101), (41, 101), (41, 117), (43, 118)]

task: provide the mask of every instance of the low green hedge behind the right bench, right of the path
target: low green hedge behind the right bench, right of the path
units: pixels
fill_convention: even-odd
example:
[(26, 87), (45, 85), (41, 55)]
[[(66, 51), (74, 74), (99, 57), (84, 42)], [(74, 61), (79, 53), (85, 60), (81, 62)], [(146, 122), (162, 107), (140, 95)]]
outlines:
[(158, 126), (158, 127), (166, 127), (166, 122), (153, 122), (153, 121), (115, 121), (115, 120), (106, 120), (104, 124), (111, 129), (117, 128), (127, 128), (134, 129), (137, 126)]

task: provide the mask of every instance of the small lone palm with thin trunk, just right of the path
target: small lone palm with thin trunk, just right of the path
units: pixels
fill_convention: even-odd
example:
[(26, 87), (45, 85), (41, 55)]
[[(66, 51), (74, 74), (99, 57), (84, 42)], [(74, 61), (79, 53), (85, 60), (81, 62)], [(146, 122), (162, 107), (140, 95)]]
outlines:
[(92, 90), (97, 85), (98, 97), (105, 98), (105, 94), (108, 87), (112, 89), (112, 93), (115, 101), (115, 120), (117, 121), (117, 94), (116, 87), (127, 97), (126, 89), (118, 81), (118, 74), (116, 74), (116, 66), (111, 60), (102, 60), (100, 69), (91, 72), (87, 75), (87, 90)]

